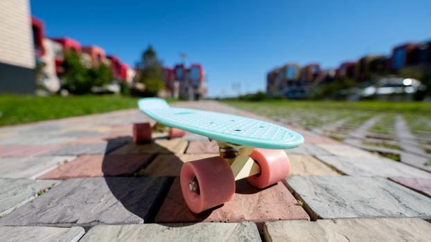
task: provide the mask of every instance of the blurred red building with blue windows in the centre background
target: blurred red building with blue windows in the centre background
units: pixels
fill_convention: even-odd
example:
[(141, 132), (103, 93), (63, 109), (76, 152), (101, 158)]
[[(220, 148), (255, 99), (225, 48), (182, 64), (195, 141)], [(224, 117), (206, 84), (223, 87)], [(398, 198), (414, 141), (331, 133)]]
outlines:
[(166, 97), (185, 100), (200, 100), (206, 96), (205, 72), (201, 64), (176, 64), (164, 68)]

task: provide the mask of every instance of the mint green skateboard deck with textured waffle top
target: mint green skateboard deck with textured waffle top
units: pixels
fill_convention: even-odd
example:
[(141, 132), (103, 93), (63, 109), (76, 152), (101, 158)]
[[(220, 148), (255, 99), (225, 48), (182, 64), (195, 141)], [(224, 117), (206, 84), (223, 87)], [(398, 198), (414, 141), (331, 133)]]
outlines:
[(139, 110), (168, 127), (213, 140), (266, 149), (291, 149), (304, 143), (299, 133), (270, 122), (226, 113), (173, 108), (161, 98), (143, 98)]

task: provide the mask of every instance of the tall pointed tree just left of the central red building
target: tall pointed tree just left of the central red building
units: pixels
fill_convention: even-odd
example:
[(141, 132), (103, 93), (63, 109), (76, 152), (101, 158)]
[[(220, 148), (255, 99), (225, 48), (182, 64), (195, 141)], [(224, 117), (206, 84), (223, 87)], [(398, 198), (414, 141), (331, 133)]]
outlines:
[(137, 82), (145, 85), (143, 95), (154, 97), (159, 91), (165, 89), (163, 65), (152, 46), (148, 46), (142, 53), (141, 62), (137, 63), (137, 68), (139, 69)]

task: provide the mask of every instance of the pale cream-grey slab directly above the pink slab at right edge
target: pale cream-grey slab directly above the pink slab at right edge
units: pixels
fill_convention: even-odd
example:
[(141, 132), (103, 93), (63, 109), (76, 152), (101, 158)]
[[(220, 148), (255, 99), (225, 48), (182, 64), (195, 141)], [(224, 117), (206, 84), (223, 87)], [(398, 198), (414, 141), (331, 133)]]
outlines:
[(316, 157), (349, 176), (431, 178), (431, 174), (426, 171), (379, 156), (342, 157), (322, 155)]

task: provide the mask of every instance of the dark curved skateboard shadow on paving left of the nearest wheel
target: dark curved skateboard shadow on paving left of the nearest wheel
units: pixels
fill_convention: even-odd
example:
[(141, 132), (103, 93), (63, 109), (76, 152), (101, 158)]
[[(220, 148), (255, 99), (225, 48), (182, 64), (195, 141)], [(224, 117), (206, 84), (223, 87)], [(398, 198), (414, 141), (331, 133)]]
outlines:
[[(108, 147), (109, 143), (114, 145), (120, 140), (130, 139), (131, 137), (127, 136), (109, 139)], [(116, 158), (113, 159), (112, 156)], [(140, 162), (139, 166), (132, 165), (131, 163), (137, 162), (136, 157), (139, 156), (146, 161)], [(151, 172), (148, 172), (146, 169), (150, 165)], [(107, 150), (102, 162), (102, 171), (112, 195), (127, 211), (142, 218), (144, 223), (168, 220), (165, 218), (172, 218), (173, 221), (168, 223), (181, 223), (182, 213), (193, 214), (185, 205), (181, 189), (175, 187), (182, 165), (182, 160), (175, 153), (155, 142), (142, 145), (127, 142), (116, 149)], [(169, 176), (159, 172), (164, 169), (170, 170)], [(188, 221), (187, 225), (204, 221), (209, 214), (210, 211), (197, 214), (195, 217), (191, 215), (193, 222)]]

